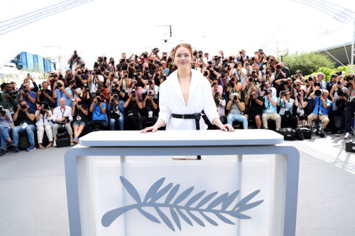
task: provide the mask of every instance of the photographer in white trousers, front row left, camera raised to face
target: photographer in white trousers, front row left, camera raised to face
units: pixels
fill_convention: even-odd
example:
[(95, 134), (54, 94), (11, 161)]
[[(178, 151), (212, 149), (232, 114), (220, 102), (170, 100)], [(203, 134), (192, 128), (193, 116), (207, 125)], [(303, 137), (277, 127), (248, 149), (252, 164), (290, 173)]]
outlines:
[[(37, 120), (35, 125), (37, 128), (38, 147), (40, 149), (52, 147), (53, 131), (52, 127), (50, 126), (52, 124), (52, 112), (50, 111), (48, 103), (40, 103), (40, 106), (38, 106), (38, 111), (35, 111), (35, 120)], [(43, 147), (42, 145), (44, 132), (47, 134), (49, 140), (49, 144), (46, 147)]]

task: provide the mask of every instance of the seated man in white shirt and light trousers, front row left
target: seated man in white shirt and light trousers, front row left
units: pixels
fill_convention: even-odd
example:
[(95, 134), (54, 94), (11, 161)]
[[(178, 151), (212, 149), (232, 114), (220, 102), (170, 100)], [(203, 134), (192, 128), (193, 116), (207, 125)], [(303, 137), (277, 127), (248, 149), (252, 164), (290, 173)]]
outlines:
[(72, 122), (72, 108), (70, 106), (66, 106), (66, 101), (64, 98), (58, 99), (59, 106), (54, 108), (53, 110), (53, 147), (57, 147), (57, 134), (58, 128), (65, 127), (67, 129), (67, 133), (70, 136), (70, 145), (74, 145), (72, 142), (72, 127), (70, 126), (70, 122)]

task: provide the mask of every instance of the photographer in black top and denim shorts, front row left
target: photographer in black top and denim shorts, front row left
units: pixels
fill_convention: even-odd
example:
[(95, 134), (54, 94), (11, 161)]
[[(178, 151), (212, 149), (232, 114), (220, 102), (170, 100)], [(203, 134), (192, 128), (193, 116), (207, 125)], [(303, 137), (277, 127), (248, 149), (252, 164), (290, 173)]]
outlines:
[(74, 139), (72, 142), (77, 144), (82, 130), (84, 130), (85, 125), (89, 122), (89, 106), (84, 104), (80, 98), (76, 98), (72, 104), (72, 117), (74, 119), (74, 122), (72, 123), (72, 128), (74, 128)]

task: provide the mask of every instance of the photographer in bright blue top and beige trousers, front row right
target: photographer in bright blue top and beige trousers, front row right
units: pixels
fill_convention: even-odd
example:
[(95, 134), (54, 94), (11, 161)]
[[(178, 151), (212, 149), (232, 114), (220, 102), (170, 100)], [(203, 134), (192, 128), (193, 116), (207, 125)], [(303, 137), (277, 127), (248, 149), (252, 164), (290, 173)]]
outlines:
[[(317, 93), (318, 96), (316, 96), (315, 93)], [(324, 129), (327, 127), (329, 123), (328, 112), (330, 106), (332, 105), (332, 101), (328, 100), (327, 89), (324, 90), (320, 89), (314, 91), (312, 92), (312, 94), (310, 94), (310, 96), (315, 101), (315, 108), (313, 112), (307, 117), (307, 127), (311, 129), (312, 121), (317, 120), (318, 104), (319, 104), (320, 106), (319, 115), (320, 115), (320, 120), (322, 120), (321, 132), (323, 133), (323, 135), (325, 135)]]

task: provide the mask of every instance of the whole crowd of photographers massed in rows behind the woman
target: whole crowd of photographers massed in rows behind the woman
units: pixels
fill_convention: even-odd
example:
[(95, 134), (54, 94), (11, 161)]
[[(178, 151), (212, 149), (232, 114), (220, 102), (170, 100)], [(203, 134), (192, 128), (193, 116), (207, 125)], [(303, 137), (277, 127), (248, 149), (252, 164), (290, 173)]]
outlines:
[[(174, 50), (174, 49), (173, 49)], [(13, 146), (18, 150), (18, 135), (27, 133), (30, 146), (56, 146), (59, 128), (66, 128), (71, 145), (79, 137), (101, 130), (141, 130), (153, 125), (159, 113), (159, 88), (177, 68), (173, 50), (160, 54), (158, 48), (149, 54), (121, 54), (119, 62), (102, 55), (89, 71), (77, 51), (68, 61), (65, 74), (52, 72), (42, 84), (28, 74), (19, 87), (1, 84), (0, 155)], [(240, 50), (226, 56), (222, 51), (210, 56), (195, 50), (191, 68), (200, 71), (210, 82), (216, 109), (223, 124), (240, 128), (275, 130), (297, 126), (311, 128), (317, 121), (318, 134), (324, 130), (351, 137), (351, 118), (355, 112), (354, 74), (332, 75), (325, 83), (324, 74), (303, 77), (293, 75), (282, 62), (267, 56), (263, 50), (246, 55)], [(205, 117), (209, 129), (216, 128)], [(313, 123), (314, 124), (314, 123)], [(49, 144), (45, 147), (43, 135)]]

